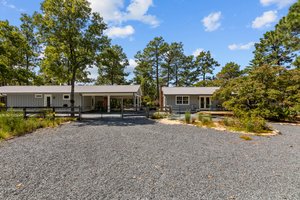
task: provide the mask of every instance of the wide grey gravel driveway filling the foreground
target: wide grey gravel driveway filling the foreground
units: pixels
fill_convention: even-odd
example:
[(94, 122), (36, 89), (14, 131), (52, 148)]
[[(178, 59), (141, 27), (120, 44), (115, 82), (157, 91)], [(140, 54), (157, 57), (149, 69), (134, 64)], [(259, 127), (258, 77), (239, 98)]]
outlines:
[(254, 137), (147, 119), (0, 142), (0, 199), (300, 199), (300, 127)]

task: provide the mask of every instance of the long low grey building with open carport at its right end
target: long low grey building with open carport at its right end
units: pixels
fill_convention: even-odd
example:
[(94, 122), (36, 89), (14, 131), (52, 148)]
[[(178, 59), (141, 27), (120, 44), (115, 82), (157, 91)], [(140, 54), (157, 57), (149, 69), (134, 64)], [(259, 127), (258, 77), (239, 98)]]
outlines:
[[(7, 107), (69, 107), (71, 86), (3, 86), (0, 96), (5, 97)], [(75, 106), (82, 111), (101, 110), (111, 112), (127, 102), (141, 107), (139, 85), (75, 86)]]

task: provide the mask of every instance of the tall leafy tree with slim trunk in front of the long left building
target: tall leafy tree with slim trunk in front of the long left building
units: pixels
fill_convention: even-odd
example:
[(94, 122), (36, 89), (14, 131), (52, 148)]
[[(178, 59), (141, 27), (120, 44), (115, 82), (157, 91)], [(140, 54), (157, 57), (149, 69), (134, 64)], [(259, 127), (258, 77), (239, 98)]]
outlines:
[(35, 15), (42, 45), (45, 47), (41, 70), (49, 84), (71, 85), (74, 108), (76, 81), (87, 82), (87, 69), (96, 56), (109, 46), (99, 13), (92, 13), (87, 0), (45, 0), (41, 14)]

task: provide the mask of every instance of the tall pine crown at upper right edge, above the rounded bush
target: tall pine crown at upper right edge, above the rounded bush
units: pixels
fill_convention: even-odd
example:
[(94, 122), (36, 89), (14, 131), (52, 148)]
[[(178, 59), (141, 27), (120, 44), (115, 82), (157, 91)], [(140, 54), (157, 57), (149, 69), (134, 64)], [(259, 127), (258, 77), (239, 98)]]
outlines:
[(252, 66), (274, 65), (300, 67), (300, 1), (289, 9), (276, 25), (275, 30), (268, 31), (260, 42), (255, 44)]

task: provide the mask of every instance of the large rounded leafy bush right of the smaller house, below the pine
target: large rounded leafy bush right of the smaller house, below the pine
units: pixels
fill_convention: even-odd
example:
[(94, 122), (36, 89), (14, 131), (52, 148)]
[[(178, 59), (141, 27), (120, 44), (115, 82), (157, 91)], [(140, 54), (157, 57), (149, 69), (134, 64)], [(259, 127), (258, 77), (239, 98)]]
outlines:
[(223, 106), (238, 117), (265, 119), (295, 117), (299, 110), (299, 70), (264, 65), (248, 76), (229, 81), (214, 94)]

